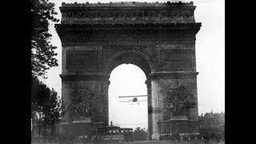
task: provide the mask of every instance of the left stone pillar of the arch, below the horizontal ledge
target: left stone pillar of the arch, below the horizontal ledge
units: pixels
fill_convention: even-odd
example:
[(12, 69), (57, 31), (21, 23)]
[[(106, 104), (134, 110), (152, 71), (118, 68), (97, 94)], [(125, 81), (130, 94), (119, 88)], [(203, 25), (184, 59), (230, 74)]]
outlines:
[[(62, 98), (65, 102), (65, 122), (76, 122), (79, 120), (88, 122), (102, 122), (108, 125), (108, 86), (110, 75), (106, 73), (87, 74), (61, 74)], [(85, 113), (77, 114), (76, 106), (79, 102), (88, 104), (80, 109), (87, 110)], [(95, 111), (96, 110), (96, 111)], [(86, 117), (86, 118), (85, 118)]]

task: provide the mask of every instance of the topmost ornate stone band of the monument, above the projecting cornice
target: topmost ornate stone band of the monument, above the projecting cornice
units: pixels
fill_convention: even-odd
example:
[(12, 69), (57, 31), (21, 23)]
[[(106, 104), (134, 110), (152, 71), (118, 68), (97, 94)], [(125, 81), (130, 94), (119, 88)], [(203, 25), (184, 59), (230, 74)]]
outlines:
[(62, 23), (194, 23), (193, 2), (62, 3)]

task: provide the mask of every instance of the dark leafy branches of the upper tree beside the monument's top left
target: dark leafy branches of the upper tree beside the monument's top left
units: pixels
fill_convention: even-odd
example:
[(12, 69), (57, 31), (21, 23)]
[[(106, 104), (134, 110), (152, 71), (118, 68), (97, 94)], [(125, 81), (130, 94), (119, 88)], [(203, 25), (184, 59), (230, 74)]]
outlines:
[[(54, 15), (54, 3), (48, 0), (31, 0), (31, 71), (33, 76), (43, 76), (52, 66), (58, 66), (56, 46), (50, 44), (49, 22), (58, 22)], [(44, 77), (45, 78), (45, 77)]]

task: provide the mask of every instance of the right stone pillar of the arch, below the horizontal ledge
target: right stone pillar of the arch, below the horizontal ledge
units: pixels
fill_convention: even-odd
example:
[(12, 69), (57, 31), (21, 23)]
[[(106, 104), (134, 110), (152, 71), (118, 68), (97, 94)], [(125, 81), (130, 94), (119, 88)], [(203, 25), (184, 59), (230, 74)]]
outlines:
[[(151, 138), (159, 140), (160, 134), (198, 134), (198, 99), (197, 99), (197, 72), (156, 72), (150, 74), (150, 117)], [(166, 98), (173, 95), (168, 93), (170, 87), (185, 86), (190, 90), (190, 102), (193, 107), (185, 110), (184, 114), (173, 114), (173, 110), (167, 110), (171, 102)], [(171, 130), (170, 130), (171, 129)]]

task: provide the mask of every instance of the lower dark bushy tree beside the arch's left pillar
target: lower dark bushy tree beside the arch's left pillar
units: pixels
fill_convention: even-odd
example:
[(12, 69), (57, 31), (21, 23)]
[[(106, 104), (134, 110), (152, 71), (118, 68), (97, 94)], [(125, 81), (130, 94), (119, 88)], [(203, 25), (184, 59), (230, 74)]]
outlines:
[(46, 136), (46, 131), (51, 131), (54, 136), (55, 122), (61, 118), (61, 100), (54, 89), (50, 90), (45, 84), (38, 81), (38, 78), (32, 78), (31, 89), (31, 120), (32, 134), (34, 134), (35, 126), (37, 126), (38, 136)]

